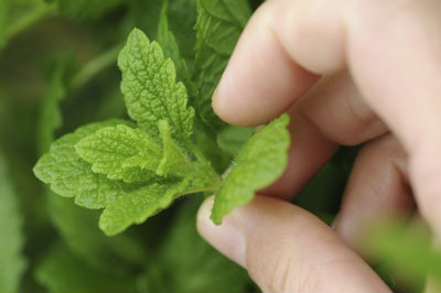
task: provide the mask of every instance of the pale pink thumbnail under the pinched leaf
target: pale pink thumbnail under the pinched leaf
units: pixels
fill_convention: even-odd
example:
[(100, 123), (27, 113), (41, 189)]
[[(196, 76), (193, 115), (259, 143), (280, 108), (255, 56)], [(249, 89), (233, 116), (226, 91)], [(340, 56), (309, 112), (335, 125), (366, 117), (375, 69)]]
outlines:
[(246, 268), (246, 240), (240, 228), (232, 216), (226, 216), (222, 225), (215, 225), (211, 219), (214, 197), (207, 198), (197, 213), (197, 230), (201, 236), (227, 258)]

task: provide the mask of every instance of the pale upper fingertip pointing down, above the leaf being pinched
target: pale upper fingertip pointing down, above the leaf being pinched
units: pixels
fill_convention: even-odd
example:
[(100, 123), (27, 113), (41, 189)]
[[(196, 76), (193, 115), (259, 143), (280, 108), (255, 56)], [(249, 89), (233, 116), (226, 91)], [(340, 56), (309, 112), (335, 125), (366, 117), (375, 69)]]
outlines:
[(213, 96), (215, 112), (229, 123), (267, 122), (319, 78), (293, 62), (277, 41), (269, 25), (273, 8), (265, 2), (251, 17)]

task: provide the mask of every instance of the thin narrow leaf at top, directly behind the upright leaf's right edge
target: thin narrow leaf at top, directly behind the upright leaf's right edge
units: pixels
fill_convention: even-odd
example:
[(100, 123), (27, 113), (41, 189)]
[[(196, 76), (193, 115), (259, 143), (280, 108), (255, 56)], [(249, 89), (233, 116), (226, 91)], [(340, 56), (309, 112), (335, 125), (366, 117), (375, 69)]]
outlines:
[(164, 56), (170, 57), (176, 67), (176, 76), (179, 80), (189, 83), (190, 73), (186, 67), (185, 59), (181, 57), (180, 48), (173, 33), (169, 30), (168, 21), (169, 1), (164, 1), (158, 24), (158, 43), (161, 45)]

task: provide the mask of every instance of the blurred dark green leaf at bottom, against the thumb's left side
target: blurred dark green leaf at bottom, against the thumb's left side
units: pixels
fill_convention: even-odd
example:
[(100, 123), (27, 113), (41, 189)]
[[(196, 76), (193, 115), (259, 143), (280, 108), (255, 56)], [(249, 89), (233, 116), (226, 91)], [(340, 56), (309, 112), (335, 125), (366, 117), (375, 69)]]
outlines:
[(249, 292), (247, 272), (197, 234), (195, 214), (202, 199), (187, 198), (178, 209), (154, 265), (141, 276), (141, 292)]

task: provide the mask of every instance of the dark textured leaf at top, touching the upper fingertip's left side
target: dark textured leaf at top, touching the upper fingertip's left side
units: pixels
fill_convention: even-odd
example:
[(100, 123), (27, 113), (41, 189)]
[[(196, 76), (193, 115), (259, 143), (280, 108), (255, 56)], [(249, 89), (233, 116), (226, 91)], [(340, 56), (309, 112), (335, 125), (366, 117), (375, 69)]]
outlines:
[(212, 109), (212, 96), (251, 12), (247, 0), (198, 0), (193, 82), (195, 108), (211, 127), (224, 123)]

